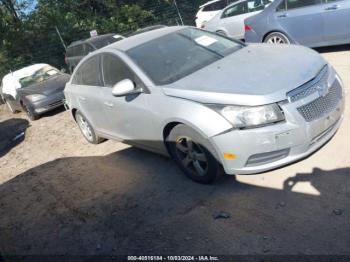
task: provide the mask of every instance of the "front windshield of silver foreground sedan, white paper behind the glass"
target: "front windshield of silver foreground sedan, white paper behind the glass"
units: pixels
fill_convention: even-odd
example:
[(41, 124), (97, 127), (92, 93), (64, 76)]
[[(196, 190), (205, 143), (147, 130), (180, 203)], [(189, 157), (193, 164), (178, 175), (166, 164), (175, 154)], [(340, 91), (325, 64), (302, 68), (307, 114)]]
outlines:
[(202, 31), (185, 28), (127, 51), (157, 85), (173, 83), (235, 52), (243, 44)]

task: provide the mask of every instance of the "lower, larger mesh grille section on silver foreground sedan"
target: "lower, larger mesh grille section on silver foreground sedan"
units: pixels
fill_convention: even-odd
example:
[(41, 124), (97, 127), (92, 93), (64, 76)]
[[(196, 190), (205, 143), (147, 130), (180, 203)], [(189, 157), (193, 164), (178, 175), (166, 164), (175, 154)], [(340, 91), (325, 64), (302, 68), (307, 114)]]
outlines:
[(341, 98), (342, 88), (339, 81), (335, 80), (325, 96), (321, 96), (309, 104), (299, 107), (298, 111), (307, 122), (311, 122), (332, 112), (339, 104)]

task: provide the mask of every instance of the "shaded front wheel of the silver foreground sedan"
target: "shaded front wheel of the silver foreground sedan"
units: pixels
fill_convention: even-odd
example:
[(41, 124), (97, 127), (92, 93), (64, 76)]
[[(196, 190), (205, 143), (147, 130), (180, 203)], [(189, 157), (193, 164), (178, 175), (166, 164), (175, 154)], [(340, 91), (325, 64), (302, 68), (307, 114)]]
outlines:
[(170, 155), (190, 179), (210, 184), (223, 174), (220, 163), (210, 152), (208, 141), (186, 125), (175, 126), (166, 142)]

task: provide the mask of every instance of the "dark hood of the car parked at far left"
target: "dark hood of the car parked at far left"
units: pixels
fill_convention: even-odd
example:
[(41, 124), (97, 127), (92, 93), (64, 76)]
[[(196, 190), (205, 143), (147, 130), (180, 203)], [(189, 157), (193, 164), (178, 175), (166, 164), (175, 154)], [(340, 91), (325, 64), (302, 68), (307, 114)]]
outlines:
[(51, 94), (63, 92), (66, 83), (69, 81), (69, 78), (70, 76), (67, 74), (59, 74), (39, 84), (28, 86), (26, 88), (20, 88), (17, 90), (17, 92), (25, 95), (42, 94), (49, 96)]

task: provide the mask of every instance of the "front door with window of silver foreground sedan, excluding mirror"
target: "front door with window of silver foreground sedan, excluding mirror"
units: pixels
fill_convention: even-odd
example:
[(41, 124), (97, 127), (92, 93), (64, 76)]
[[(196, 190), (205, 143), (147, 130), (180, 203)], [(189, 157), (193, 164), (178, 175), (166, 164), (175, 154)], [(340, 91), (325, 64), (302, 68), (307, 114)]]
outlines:
[(154, 114), (148, 106), (149, 94), (116, 97), (112, 94), (113, 86), (118, 82), (130, 79), (136, 88), (145, 86), (129, 66), (117, 55), (102, 55), (102, 102), (108, 121), (108, 135), (116, 139), (146, 147), (154, 147)]

